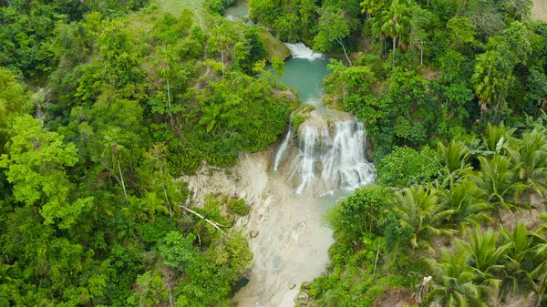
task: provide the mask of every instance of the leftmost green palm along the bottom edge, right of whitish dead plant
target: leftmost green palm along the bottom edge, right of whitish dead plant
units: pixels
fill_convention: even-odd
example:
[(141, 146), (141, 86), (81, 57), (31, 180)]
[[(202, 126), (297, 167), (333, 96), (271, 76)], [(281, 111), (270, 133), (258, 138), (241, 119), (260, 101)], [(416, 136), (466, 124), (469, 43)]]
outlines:
[(443, 307), (486, 307), (480, 293), (488, 292), (488, 287), (473, 282), (477, 274), (469, 261), (470, 253), (465, 249), (454, 253), (443, 251), (439, 262), (430, 260), (433, 283), (428, 299)]

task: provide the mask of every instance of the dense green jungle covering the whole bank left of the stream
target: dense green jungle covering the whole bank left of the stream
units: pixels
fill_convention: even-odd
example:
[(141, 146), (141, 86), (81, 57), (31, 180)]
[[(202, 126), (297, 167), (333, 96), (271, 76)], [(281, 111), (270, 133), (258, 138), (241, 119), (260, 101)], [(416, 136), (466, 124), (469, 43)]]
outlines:
[(297, 101), (256, 26), (198, 4), (0, 1), (0, 306), (230, 305), (249, 208), (191, 209), (179, 178), (269, 146)]

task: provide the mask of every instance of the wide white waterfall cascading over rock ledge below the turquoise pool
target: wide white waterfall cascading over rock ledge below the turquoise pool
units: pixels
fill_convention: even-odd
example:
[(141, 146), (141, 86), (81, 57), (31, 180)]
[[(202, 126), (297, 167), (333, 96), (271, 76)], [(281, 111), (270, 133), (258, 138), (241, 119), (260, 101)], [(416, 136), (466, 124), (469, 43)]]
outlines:
[(374, 182), (374, 165), (366, 160), (363, 123), (337, 121), (333, 133), (326, 122), (320, 127), (308, 125), (301, 129), (299, 138), (298, 154), (290, 164), (288, 176), (289, 179), (298, 177), (296, 194), (357, 189)]

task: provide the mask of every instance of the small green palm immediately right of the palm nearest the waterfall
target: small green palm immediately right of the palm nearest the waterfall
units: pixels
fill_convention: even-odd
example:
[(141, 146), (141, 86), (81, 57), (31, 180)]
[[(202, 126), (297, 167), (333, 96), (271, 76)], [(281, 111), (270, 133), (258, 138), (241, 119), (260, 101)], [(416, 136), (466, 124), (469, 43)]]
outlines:
[(472, 225), (491, 222), (489, 212), (493, 206), (484, 200), (485, 193), (477, 188), (475, 182), (463, 179), (451, 189), (442, 190), (440, 195), (452, 212), (449, 215), (452, 228), (467, 230)]

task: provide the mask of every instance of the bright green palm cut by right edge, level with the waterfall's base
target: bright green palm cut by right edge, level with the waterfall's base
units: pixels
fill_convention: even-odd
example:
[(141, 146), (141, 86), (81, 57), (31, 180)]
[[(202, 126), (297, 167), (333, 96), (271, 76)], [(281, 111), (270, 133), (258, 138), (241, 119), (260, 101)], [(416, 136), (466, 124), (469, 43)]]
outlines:
[(505, 146), (513, 165), (518, 165), (518, 176), (522, 182), (540, 196), (547, 192), (547, 138), (538, 128), (511, 138)]

